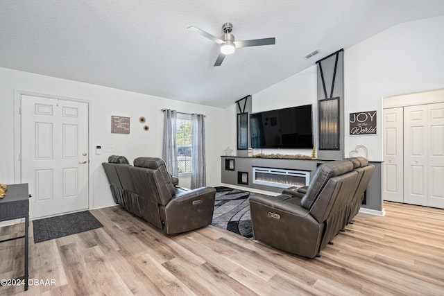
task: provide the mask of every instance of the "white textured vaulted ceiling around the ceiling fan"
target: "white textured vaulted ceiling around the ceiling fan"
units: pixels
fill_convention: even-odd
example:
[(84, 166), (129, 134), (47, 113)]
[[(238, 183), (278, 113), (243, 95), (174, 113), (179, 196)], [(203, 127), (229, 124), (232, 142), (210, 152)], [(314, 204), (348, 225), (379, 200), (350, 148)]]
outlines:
[[(0, 67), (227, 107), (391, 26), (438, 15), (442, 0), (1, 0)], [(213, 67), (218, 44), (187, 27), (220, 37), (227, 21), (236, 40), (276, 44)]]

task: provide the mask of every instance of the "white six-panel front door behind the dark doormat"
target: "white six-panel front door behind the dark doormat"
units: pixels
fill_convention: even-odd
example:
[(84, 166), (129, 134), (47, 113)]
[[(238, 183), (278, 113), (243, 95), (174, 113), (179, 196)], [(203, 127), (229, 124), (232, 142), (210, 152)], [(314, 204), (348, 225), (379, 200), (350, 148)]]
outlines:
[(30, 216), (88, 209), (88, 103), (22, 95), (22, 183)]

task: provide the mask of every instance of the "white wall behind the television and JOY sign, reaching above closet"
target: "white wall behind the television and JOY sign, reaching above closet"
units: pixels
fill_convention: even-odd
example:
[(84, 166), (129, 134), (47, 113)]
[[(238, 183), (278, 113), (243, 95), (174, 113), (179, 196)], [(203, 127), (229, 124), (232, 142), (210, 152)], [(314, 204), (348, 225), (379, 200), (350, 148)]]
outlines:
[[(361, 144), (368, 148), (370, 160), (382, 161), (384, 96), (444, 87), (443, 28), (444, 16), (411, 21), (344, 49), (345, 157)], [(311, 103), (317, 121), (316, 65), (253, 94), (252, 103), (253, 112)], [(348, 136), (349, 114), (373, 110), (377, 111), (377, 135)], [(317, 125), (315, 122), (316, 144)]]

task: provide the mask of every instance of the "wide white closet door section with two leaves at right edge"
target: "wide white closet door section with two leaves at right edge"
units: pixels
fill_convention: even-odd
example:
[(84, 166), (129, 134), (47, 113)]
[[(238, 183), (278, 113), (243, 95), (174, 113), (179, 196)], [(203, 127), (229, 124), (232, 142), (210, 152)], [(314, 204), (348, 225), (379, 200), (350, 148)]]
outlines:
[(444, 103), (404, 107), (404, 202), (444, 209)]

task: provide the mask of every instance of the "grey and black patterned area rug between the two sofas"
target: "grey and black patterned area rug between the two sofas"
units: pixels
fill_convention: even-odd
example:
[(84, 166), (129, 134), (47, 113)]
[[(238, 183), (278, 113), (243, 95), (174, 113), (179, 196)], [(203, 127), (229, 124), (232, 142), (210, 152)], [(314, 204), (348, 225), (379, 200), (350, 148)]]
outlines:
[(250, 192), (225, 186), (214, 188), (216, 189), (216, 200), (212, 225), (230, 230), (230, 232), (246, 238), (252, 238)]

